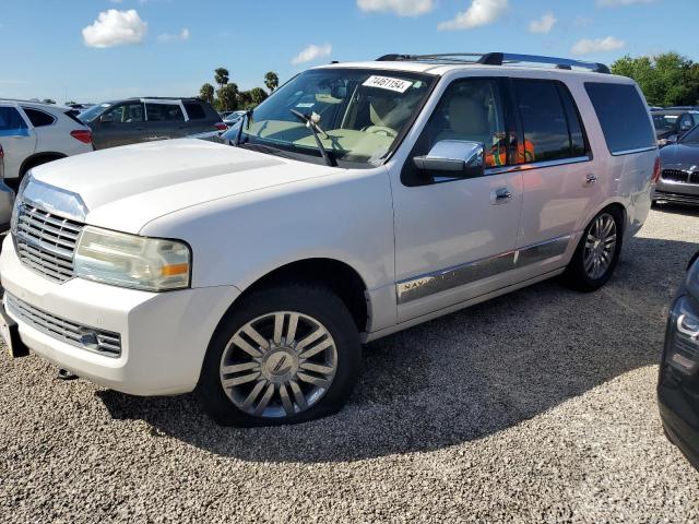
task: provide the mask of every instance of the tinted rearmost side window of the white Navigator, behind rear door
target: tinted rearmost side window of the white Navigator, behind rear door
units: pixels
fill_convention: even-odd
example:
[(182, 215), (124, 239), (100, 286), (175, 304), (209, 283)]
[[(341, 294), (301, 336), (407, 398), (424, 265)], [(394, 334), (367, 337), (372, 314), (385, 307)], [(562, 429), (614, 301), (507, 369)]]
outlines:
[(588, 82), (585, 90), (612, 154), (655, 146), (648, 109), (636, 86)]

